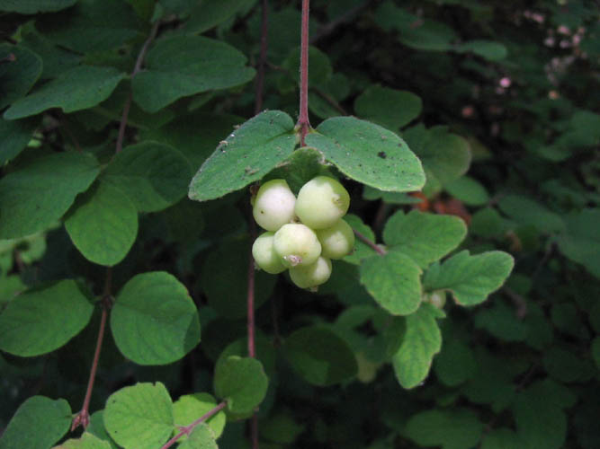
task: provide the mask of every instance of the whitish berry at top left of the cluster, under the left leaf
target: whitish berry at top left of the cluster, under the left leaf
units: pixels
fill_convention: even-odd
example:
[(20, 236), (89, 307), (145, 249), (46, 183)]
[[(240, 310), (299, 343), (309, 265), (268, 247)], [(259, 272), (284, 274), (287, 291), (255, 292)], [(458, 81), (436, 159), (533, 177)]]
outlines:
[(256, 223), (266, 231), (277, 231), (294, 221), (296, 197), (285, 180), (269, 180), (258, 192), (252, 208)]

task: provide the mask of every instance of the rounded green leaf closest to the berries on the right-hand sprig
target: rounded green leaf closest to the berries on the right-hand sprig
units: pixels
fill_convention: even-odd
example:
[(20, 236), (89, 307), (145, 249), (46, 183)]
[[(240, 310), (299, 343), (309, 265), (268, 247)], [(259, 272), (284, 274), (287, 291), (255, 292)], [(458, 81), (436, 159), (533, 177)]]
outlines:
[(407, 255), (389, 251), (363, 260), (361, 284), (392, 315), (407, 315), (421, 304), (421, 272)]

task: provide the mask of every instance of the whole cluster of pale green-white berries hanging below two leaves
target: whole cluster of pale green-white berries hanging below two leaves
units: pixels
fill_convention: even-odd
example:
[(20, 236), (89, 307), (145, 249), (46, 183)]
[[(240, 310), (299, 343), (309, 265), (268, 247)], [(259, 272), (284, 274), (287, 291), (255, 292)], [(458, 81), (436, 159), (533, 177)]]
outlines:
[(252, 211), (266, 231), (252, 246), (256, 265), (271, 274), (290, 269), (291, 281), (300, 288), (327, 282), (331, 260), (354, 248), (354, 232), (342, 219), (349, 206), (347, 190), (327, 176), (309, 180), (298, 198), (285, 180), (265, 182)]

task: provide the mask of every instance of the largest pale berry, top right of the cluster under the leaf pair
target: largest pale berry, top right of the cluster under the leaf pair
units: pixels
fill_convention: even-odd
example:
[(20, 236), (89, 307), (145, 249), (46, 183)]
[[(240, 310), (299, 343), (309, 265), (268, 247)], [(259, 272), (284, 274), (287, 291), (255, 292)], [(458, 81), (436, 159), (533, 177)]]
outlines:
[(296, 199), (296, 215), (312, 229), (333, 226), (350, 206), (348, 191), (337, 180), (317, 176), (302, 186)]

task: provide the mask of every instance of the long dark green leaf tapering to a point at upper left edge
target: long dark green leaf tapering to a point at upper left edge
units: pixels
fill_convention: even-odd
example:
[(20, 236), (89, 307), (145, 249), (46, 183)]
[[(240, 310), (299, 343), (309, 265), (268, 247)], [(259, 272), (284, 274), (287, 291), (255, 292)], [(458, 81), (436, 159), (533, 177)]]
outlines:
[(85, 110), (106, 100), (125, 77), (113, 67), (77, 66), (31, 92), (4, 112), (4, 119), (21, 119), (50, 108)]

